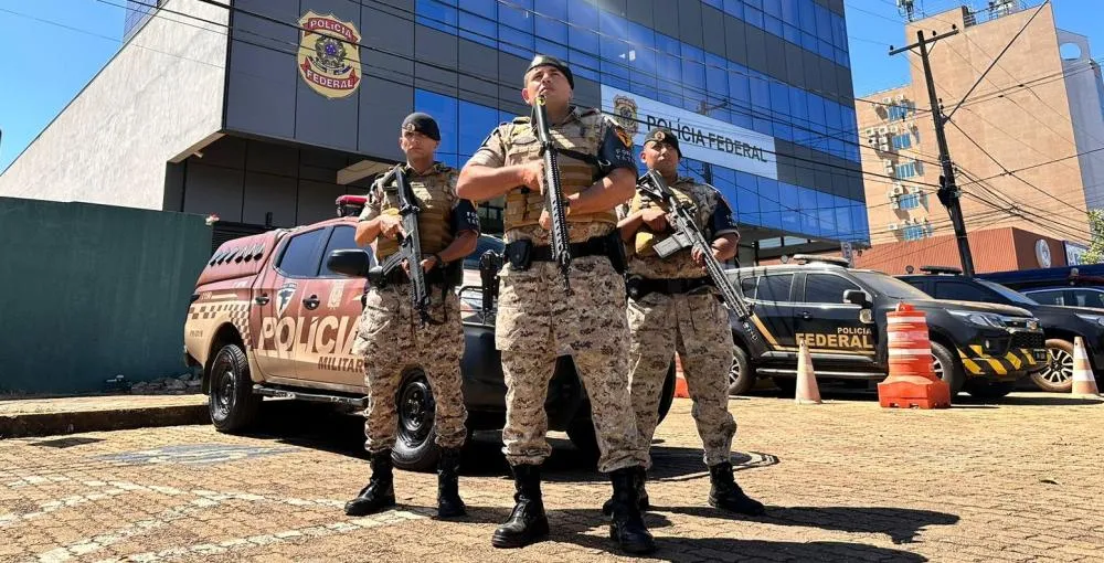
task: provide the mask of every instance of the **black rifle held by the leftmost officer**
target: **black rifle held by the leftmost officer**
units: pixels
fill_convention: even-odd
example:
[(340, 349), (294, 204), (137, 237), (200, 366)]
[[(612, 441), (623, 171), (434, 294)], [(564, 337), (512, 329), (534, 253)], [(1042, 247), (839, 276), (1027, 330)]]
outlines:
[(388, 256), (379, 266), (368, 272), (368, 278), (372, 284), (381, 285), (396, 267), (406, 263), (407, 276), (411, 280), (411, 306), (417, 311), (418, 318), (424, 327), (427, 322), (439, 325), (438, 321), (429, 317), (429, 288), (425, 282), (425, 270), (422, 269), (422, 238), (418, 233), (417, 219), (422, 209), (418, 208), (417, 198), (406, 180), (403, 172), (403, 164), (392, 168), (383, 180), (381, 187), (386, 187), (392, 181), (399, 191), (399, 215), (402, 217), (402, 233), (399, 234), (399, 252)]

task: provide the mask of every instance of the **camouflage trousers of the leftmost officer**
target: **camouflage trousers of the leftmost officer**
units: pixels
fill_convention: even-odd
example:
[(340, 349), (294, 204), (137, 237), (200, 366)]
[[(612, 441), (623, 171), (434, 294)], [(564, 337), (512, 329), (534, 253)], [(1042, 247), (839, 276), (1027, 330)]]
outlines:
[(434, 432), (440, 447), (460, 447), (467, 437), (464, 426), (468, 413), (464, 406), (460, 357), (464, 355), (464, 326), (456, 294), (448, 291), (444, 301), (440, 288), (433, 287), (431, 315), (442, 325), (421, 326), (410, 302), (406, 284), (371, 289), (361, 314), (353, 353), (364, 355), (364, 448), (390, 449), (395, 444), (399, 416), (395, 395), (403, 378), (421, 368), (436, 404)]

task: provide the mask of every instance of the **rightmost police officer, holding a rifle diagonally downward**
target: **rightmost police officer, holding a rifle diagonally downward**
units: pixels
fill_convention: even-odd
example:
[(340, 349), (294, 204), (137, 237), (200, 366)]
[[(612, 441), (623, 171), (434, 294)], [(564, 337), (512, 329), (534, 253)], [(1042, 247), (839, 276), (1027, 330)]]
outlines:
[[(676, 196), (693, 205), (698, 226), (713, 241), (713, 256), (731, 259), (740, 234), (732, 210), (718, 191), (691, 178), (678, 178), (679, 140), (668, 129), (645, 138), (640, 160), (664, 177)], [(732, 477), (730, 449), (736, 423), (729, 413), (732, 333), (729, 315), (712, 289), (697, 251), (682, 249), (666, 259), (652, 245), (670, 234), (667, 212), (639, 192), (619, 210), (628, 259), (630, 390), (640, 443), (650, 446), (658, 423), (659, 395), (673, 354), (682, 359), (691, 414), (698, 425), (712, 488), (709, 503), (744, 514), (762, 514), (763, 504), (744, 495)], [(650, 460), (649, 460), (650, 465)], [(641, 509), (648, 495), (638, 492)]]

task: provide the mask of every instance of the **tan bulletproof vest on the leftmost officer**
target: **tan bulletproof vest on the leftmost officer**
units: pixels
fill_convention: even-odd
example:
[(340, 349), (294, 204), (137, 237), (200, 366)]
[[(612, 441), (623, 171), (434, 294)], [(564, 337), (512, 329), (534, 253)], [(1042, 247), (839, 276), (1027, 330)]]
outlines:
[[(407, 168), (407, 170), (410, 170)], [(422, 254), (429, 255), (445, 249), (453, 242), (453, 169), (435, 164), (432, 172), (414, 176), (407, 172), (414, 196), (418, 200), (417, 227), (422, 235)], [(382, 190), (383, 202), (380, 214), (399, 214), (399, 193), (391, 187)], [(382, 261), (399, 252), (399, 242), (381, 236), (376, 238), (375, 256)]]

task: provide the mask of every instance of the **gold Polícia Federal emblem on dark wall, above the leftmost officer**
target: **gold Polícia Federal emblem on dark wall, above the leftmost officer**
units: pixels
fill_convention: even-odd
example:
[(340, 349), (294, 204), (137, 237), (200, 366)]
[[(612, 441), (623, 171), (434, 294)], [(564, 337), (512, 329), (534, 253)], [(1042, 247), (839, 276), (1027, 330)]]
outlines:
[(308, 11), (299, 19), (299, 76), (328, 98), (343, 98), (360, 87), (360, 32), (333, 14)]

